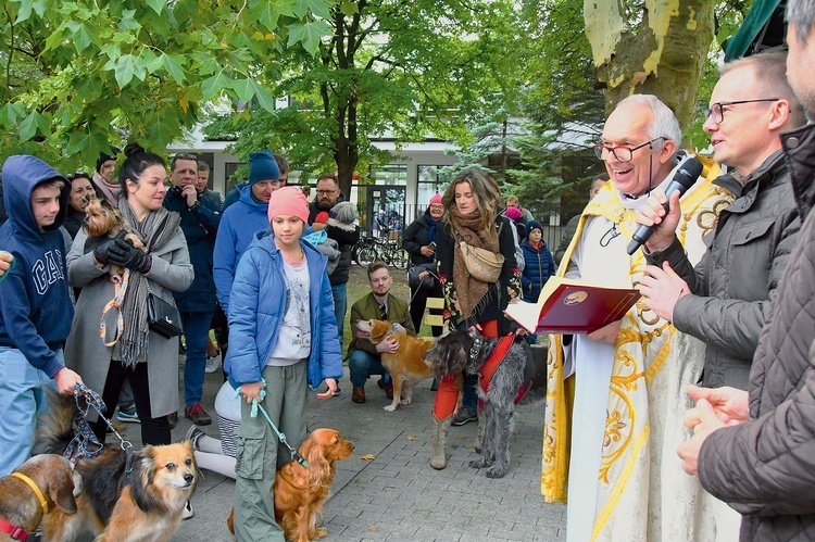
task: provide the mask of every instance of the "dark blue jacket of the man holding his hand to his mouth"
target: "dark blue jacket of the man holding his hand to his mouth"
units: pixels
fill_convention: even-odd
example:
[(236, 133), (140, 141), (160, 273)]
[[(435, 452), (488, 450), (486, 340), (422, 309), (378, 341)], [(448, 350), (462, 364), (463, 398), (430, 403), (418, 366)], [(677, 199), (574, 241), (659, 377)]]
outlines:
[(212, 277), (215, 237), (221, 224), (221, 207), (210, 198), (198, 197), (198, 205), (187, 207), (187, 199), (181, 197), (180, 187), (172, 187), (164, 198), (167, 211), (181, 216), (181, 231), (187, 239), (189, 261), (196, 274), (186, 291), (173, 292), (175, 303), (181, 312), (215, 311), (217, 293)]

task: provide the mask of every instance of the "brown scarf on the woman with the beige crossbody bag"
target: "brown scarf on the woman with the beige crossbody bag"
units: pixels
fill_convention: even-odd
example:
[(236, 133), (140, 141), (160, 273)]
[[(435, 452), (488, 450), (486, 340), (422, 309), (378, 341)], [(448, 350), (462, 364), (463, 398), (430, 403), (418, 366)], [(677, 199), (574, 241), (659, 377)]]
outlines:
[(455, 245), (453, 252), (453, 283), (455, 285), (461, 314), (465, 319), (469, 319), (474, 313), (481, 312), (480, 310), (489, 303), (489, 295), (487, 293), (490, 285), (481, 282), (467, 273), (459, 242), (463, 240), (477, 249), (485, 249), (497, 253), (500, 251), (498, 232), (492, 222), (490, 222), (486, 229), (478, 229), (481, 223), (480, 210), (476, 210), (468, 215), (462, 215), (459, 213), (457, 207), (451, 206), (448, 213), (450, 225), (453, 228), (453, 237), (455, 238), (455, 242), (453, 243)]

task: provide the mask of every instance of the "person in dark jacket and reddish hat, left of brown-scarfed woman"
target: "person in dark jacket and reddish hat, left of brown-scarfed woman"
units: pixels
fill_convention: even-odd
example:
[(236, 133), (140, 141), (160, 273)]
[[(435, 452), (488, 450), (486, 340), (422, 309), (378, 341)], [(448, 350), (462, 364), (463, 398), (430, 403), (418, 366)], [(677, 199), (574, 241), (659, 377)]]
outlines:
[[(411, 255), (411, 266), (423, 265), (430, 267), (434, 275), (437, 274), (436, 266), (436, 234), (441, 217), (444, 214), (444, 205), (441, 203), (441, 194), (430, 198), (430, 204), (425, 214), (413, 220), (402, 236), (402, 248)], [(419, 288), (411, 286), (411, 319), (413, 329), (418, 332), (422, 327), (422, 316), (427, 307), (427, 298), (441, 298), (441, 283), (430, 275), (429, 270), (423, 270), (418, 275), (419, 280), (432, 282), (432, 288)], [(441, 314), (439, 312), (439, 314)], [(441, 326), (432, 327), (432, 336), (441, 335)]]

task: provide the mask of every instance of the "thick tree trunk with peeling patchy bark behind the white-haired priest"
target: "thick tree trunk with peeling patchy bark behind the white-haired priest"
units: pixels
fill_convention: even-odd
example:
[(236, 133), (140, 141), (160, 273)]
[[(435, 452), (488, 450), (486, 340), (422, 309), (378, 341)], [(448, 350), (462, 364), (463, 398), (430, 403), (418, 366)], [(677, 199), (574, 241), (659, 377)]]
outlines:
[(624, 98), (650, 93), (686, 128), (697, 113), (697, 92), (713, 39), (711, 0), (645, 0), (631, 29), (618, 0), (585, 0), (586, 36), (605, 94), (606, 117)]

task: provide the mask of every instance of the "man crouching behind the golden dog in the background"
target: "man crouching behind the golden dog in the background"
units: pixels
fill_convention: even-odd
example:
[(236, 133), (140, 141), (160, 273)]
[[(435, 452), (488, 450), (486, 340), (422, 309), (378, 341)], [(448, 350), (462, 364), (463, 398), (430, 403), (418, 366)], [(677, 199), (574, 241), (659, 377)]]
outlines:
[[(363, 295), (351, 306), (350, 324), (352, 329), (360, 320), (385, 320), (401, 326), (401, 331), (415, 336), (408, 303), (390, 293), (393, 277), (390, 276), (388, 265), (384, 262), (373, 262), (367, 268), (371, 293)], [(355, 331), (355, 330), (354, 330)], [(392, 337), (386, 337), (374, 344), (367, 339), (358, 338), (353, 332), (351, 344), (348, 345), (348, 371), (351, 377), (353, 392), (351, 401), (356, 404), (365, 402), (365, 381), (371, 375), (381, 375), (377, 381), (385, 395), (393, 399), (393, 382), (385, 370), (381, 361), (383, 352), (394, 353), (399, 350), (399, 342)]]

